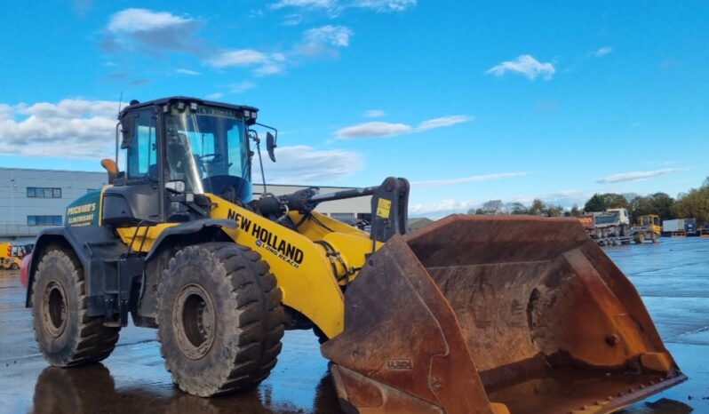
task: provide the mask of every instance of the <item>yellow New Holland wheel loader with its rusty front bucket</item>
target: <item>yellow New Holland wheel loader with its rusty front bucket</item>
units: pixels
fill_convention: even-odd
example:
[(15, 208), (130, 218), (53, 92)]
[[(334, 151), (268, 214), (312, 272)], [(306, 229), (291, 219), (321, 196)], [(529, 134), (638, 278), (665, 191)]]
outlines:
[[(187, 97), (123, 108), (108, 186), (29, 260), (50, 364), (107, 358), (130, 314), (203, 397), (258, 386), (293, 329), (320, 338), (347, 413), (606, 413), (686, 378), (577, 220), (452, 215), (407, 234), (399, 178), (280, 196), (264, 180), (252, 199), (258, 131), (272, 161), (277, 146), (257, 115)], [(365, 195), (370, 233), (315, 210)]]

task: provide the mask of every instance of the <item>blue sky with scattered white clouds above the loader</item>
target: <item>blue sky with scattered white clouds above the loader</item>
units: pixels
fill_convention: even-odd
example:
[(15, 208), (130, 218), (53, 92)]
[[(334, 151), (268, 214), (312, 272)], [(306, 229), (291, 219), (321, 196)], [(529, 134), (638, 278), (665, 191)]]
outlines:
[(411, 213), (676, 196), (709, 175), (709, 3), (7, 3), (0, 165), (99, 171), (118, 98), (277, 126), (271, 182), (410, 179)]

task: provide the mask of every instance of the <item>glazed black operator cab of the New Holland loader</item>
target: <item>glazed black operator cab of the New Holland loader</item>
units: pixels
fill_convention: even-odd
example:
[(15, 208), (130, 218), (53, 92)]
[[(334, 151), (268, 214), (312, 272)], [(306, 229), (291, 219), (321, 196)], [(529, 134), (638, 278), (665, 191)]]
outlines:
[(104, 163), (114, 186), (104, 192), (103, 222), (149, 226), (207, 218), (205, 193), (251, 201), (249, 128), (258, 111), (187, 97), (131, 101), (116, 126), (117, 162)]

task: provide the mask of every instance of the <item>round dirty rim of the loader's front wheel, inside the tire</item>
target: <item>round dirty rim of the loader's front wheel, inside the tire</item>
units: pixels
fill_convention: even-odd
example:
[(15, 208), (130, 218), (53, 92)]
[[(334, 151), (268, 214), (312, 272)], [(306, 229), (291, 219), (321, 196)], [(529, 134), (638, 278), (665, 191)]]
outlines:
[(172, 327), (182, 354), (200, 359), (208, 354), (216, 331), (211, 296), (202, 286), (189, 284), (179, 292), (172, 307)]

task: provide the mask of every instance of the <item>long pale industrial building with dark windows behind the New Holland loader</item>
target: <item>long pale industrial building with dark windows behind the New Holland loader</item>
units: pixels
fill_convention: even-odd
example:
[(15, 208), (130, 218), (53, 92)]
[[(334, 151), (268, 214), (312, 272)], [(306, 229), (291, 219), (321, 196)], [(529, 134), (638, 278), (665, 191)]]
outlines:
[[(44, 227), (61, 226), (69, 203), (108, 182), (106, 172), (38, 170), (0, 167), (0, 241), (34, 243)], [(318, 186), (267, 185), (269, 193), (283, 195)], [(320, 187), (330, 193), (347, 187)], [(254, 196), (263, 192), (253, 184)], [(371, 197), (322, 203), (317, 211), (334, 219), (370, 219)]]

